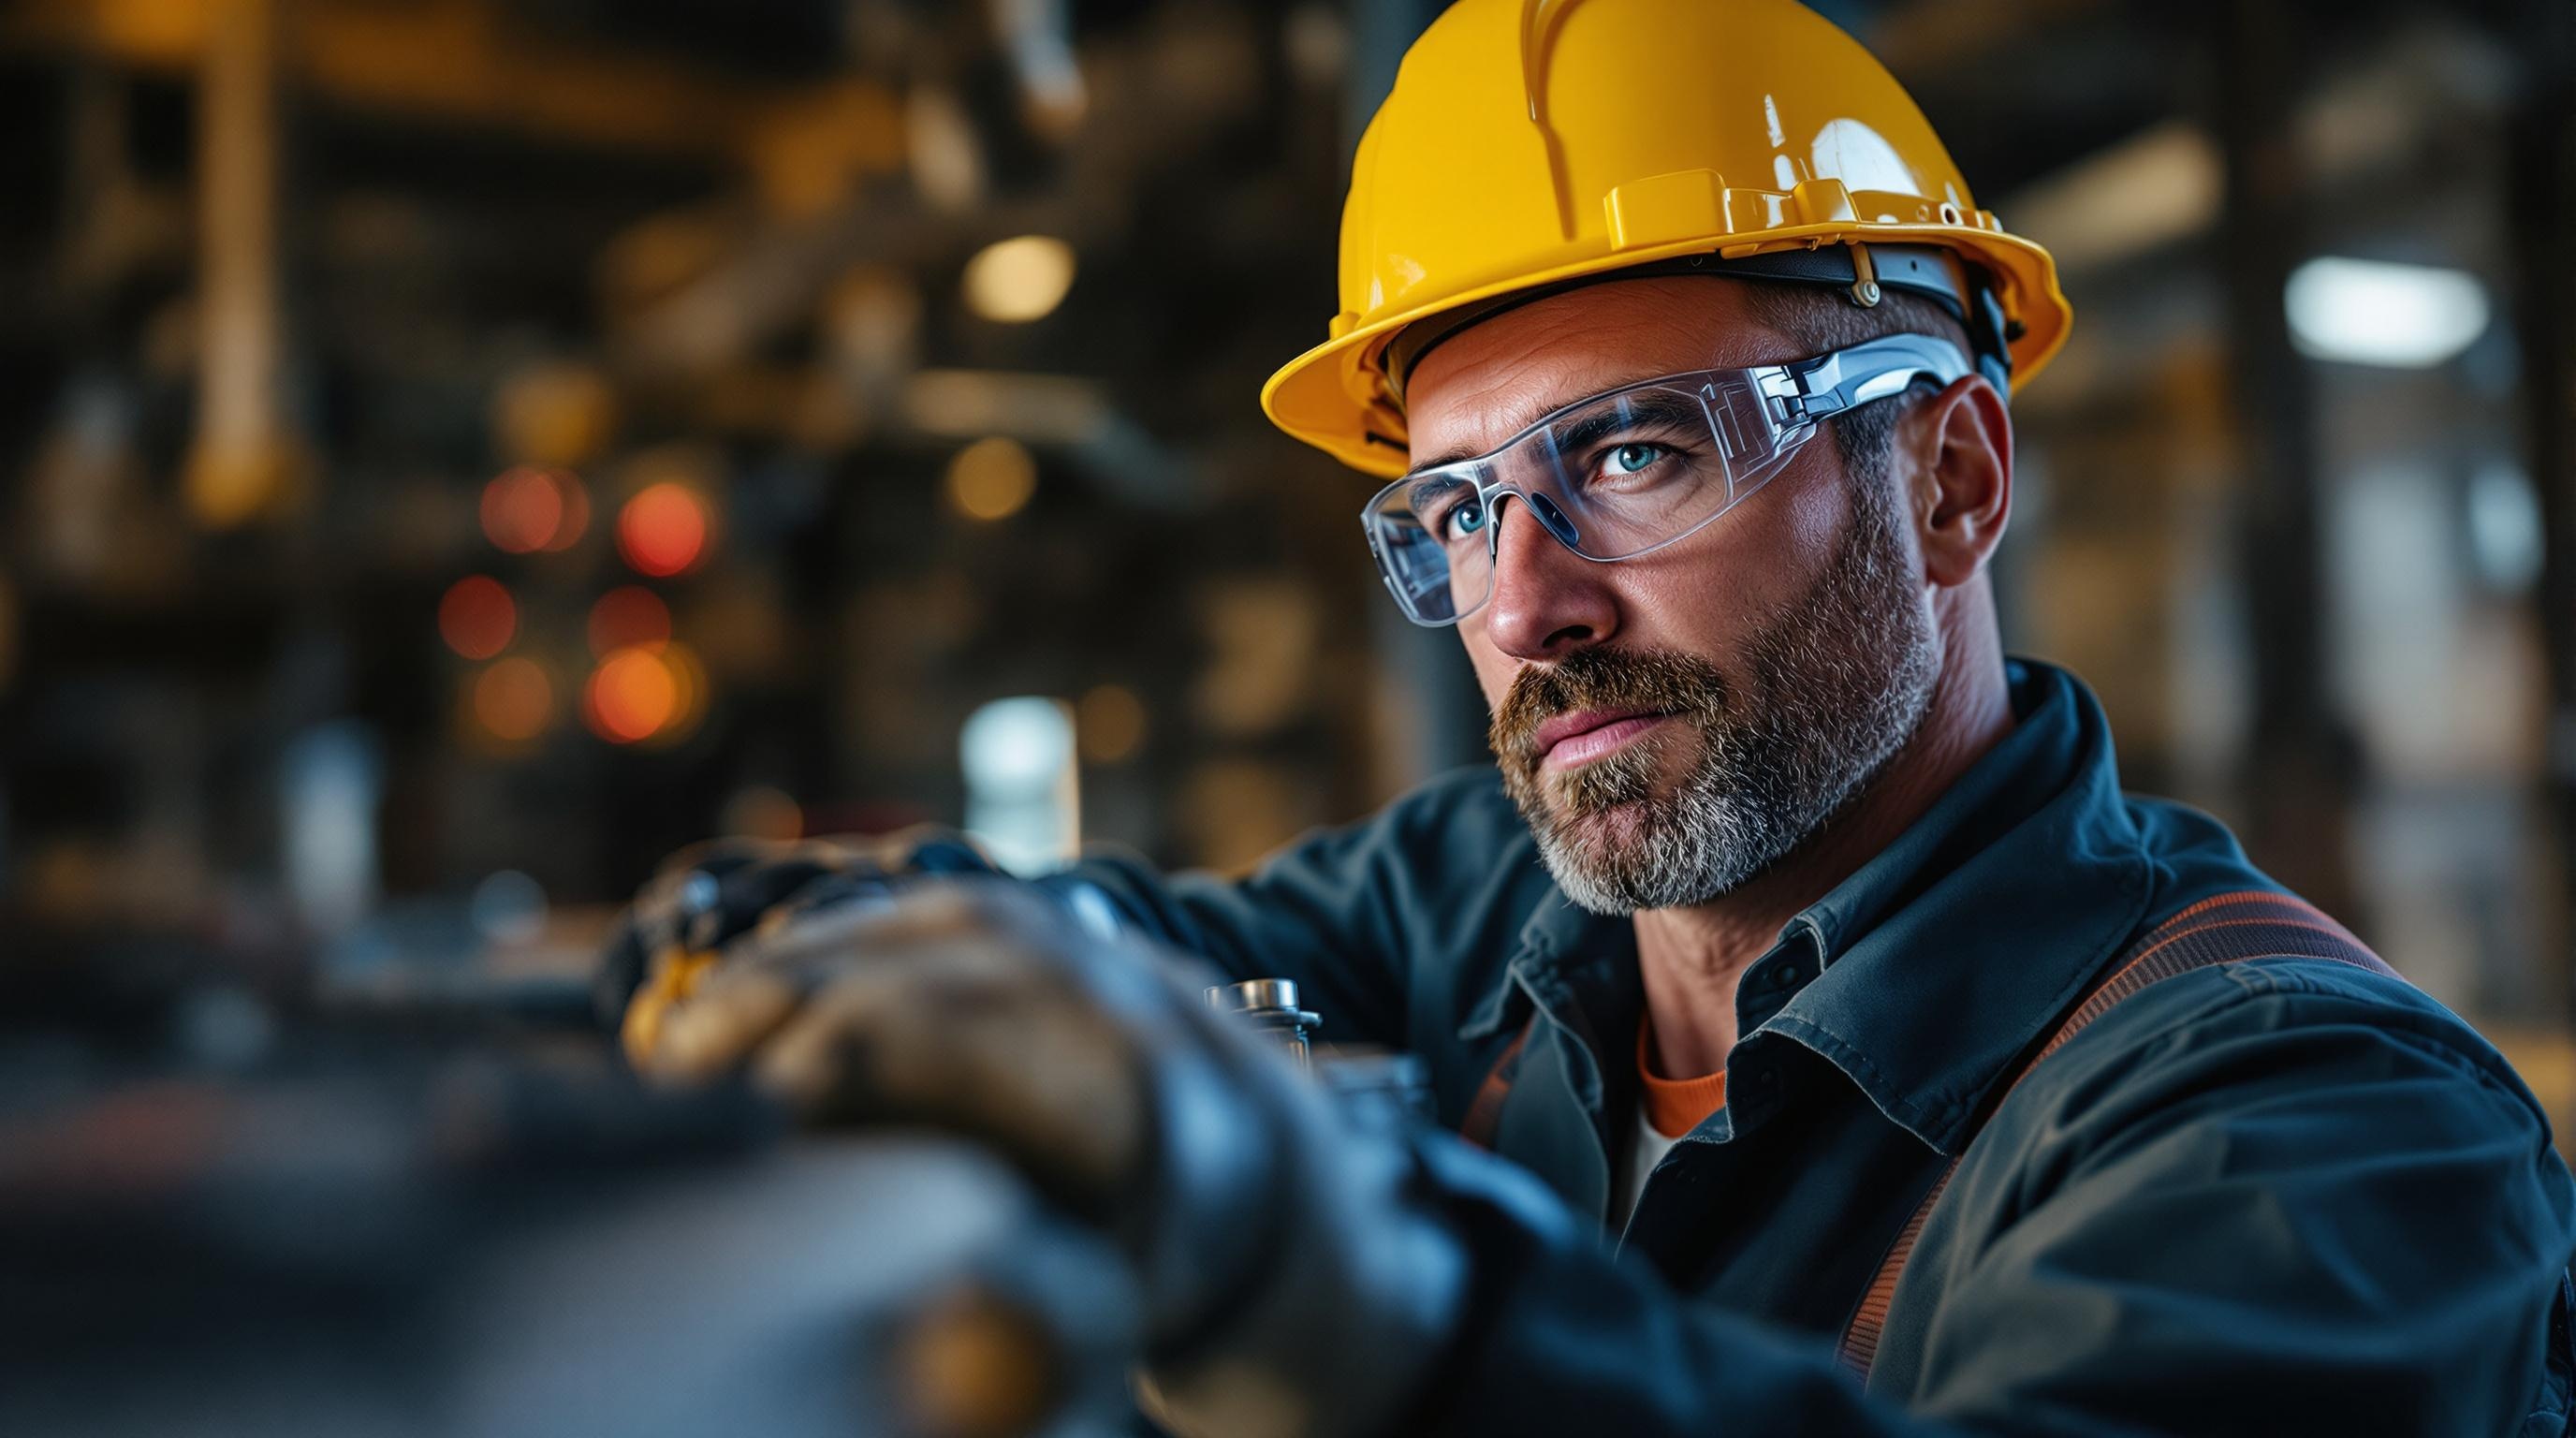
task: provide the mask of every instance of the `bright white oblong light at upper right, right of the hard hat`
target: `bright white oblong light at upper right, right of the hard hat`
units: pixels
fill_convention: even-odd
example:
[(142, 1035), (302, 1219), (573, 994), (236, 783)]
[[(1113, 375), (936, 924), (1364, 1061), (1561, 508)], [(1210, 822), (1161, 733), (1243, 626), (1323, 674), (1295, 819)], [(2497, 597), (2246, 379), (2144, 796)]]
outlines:
[(2463, 271), (2316, 258), (2282, 294), (2308, 358), (2432, 369), (2486, 332), (2486, 286)]

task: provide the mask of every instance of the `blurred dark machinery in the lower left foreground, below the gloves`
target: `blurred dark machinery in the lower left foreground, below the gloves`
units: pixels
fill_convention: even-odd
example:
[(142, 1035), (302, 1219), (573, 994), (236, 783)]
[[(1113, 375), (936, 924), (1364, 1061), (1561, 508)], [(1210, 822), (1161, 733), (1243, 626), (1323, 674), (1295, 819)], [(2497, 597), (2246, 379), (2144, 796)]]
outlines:
[[(165, 997), (147, 1033), (204, 1026)], [(281, 1005), (250, 1062), (0, 1041), (0, 1430), (1126, 1423), (1126, 1276), (999, 1162), (788, 1142), (750, 1093), (644, 1090), (531, 1008)]]

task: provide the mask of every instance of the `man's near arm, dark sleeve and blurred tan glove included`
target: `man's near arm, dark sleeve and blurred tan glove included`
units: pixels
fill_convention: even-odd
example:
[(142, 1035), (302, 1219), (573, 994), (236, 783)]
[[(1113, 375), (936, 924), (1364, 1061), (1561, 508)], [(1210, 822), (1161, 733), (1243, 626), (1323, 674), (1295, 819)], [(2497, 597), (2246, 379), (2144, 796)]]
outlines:
[(2576, 1247), (2548, 1124), (2437, 1005), (2326, 969), (2166, 979), (2040, 1064), (1927, 1224), (1870, 1394), (1615, 1263), (1530, 1173), (1334, 1121), (1195, 979), (1007, 884), (778, 933), (644, 1069), (1015, 1157), (1118, 1240), (1208, 1433), (2530, 1430)]

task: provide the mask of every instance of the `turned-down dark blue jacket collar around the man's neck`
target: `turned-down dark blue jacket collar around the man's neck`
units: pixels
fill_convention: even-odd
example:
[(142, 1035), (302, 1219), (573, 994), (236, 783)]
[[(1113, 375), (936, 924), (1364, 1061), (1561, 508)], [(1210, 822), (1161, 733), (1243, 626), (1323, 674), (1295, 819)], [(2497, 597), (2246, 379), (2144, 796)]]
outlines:
[[(2146, 917), (2151, 863), (2120, 796), (2110, 722), (2081, 680), (2009, 665), (2017, 727), (1904, 835), (1780, 930), (1744, 974), (1811, 974), (1744, 1041), (1814, 1049), (1893, 1124), (1955, 1152), (2004, 1067), (2027, 1049)], [(1788, 951), (1816, 964), (1790, 966)], [(1510, 979), (1458, 1028), (1492, 1036), (1574, 969), (1625, 964), (1636, 930), (1548, 887), (1520, 930)], [(1582, 984), (1592, 987), (1592, 984)]]

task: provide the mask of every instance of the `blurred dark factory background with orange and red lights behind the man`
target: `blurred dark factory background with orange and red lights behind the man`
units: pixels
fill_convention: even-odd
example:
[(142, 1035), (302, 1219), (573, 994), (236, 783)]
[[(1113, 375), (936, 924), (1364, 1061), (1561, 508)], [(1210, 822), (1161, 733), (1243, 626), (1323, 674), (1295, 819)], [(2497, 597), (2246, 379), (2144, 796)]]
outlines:
[[(2568, 5), (1821, 8), (2079, 309), (2012, 644), (2563, 1095)], [(0, 5), (21, 961), (562, 966), (719, 832), (1242, 866), (1479, 760), (1255, 405), (1432, 13)]]

